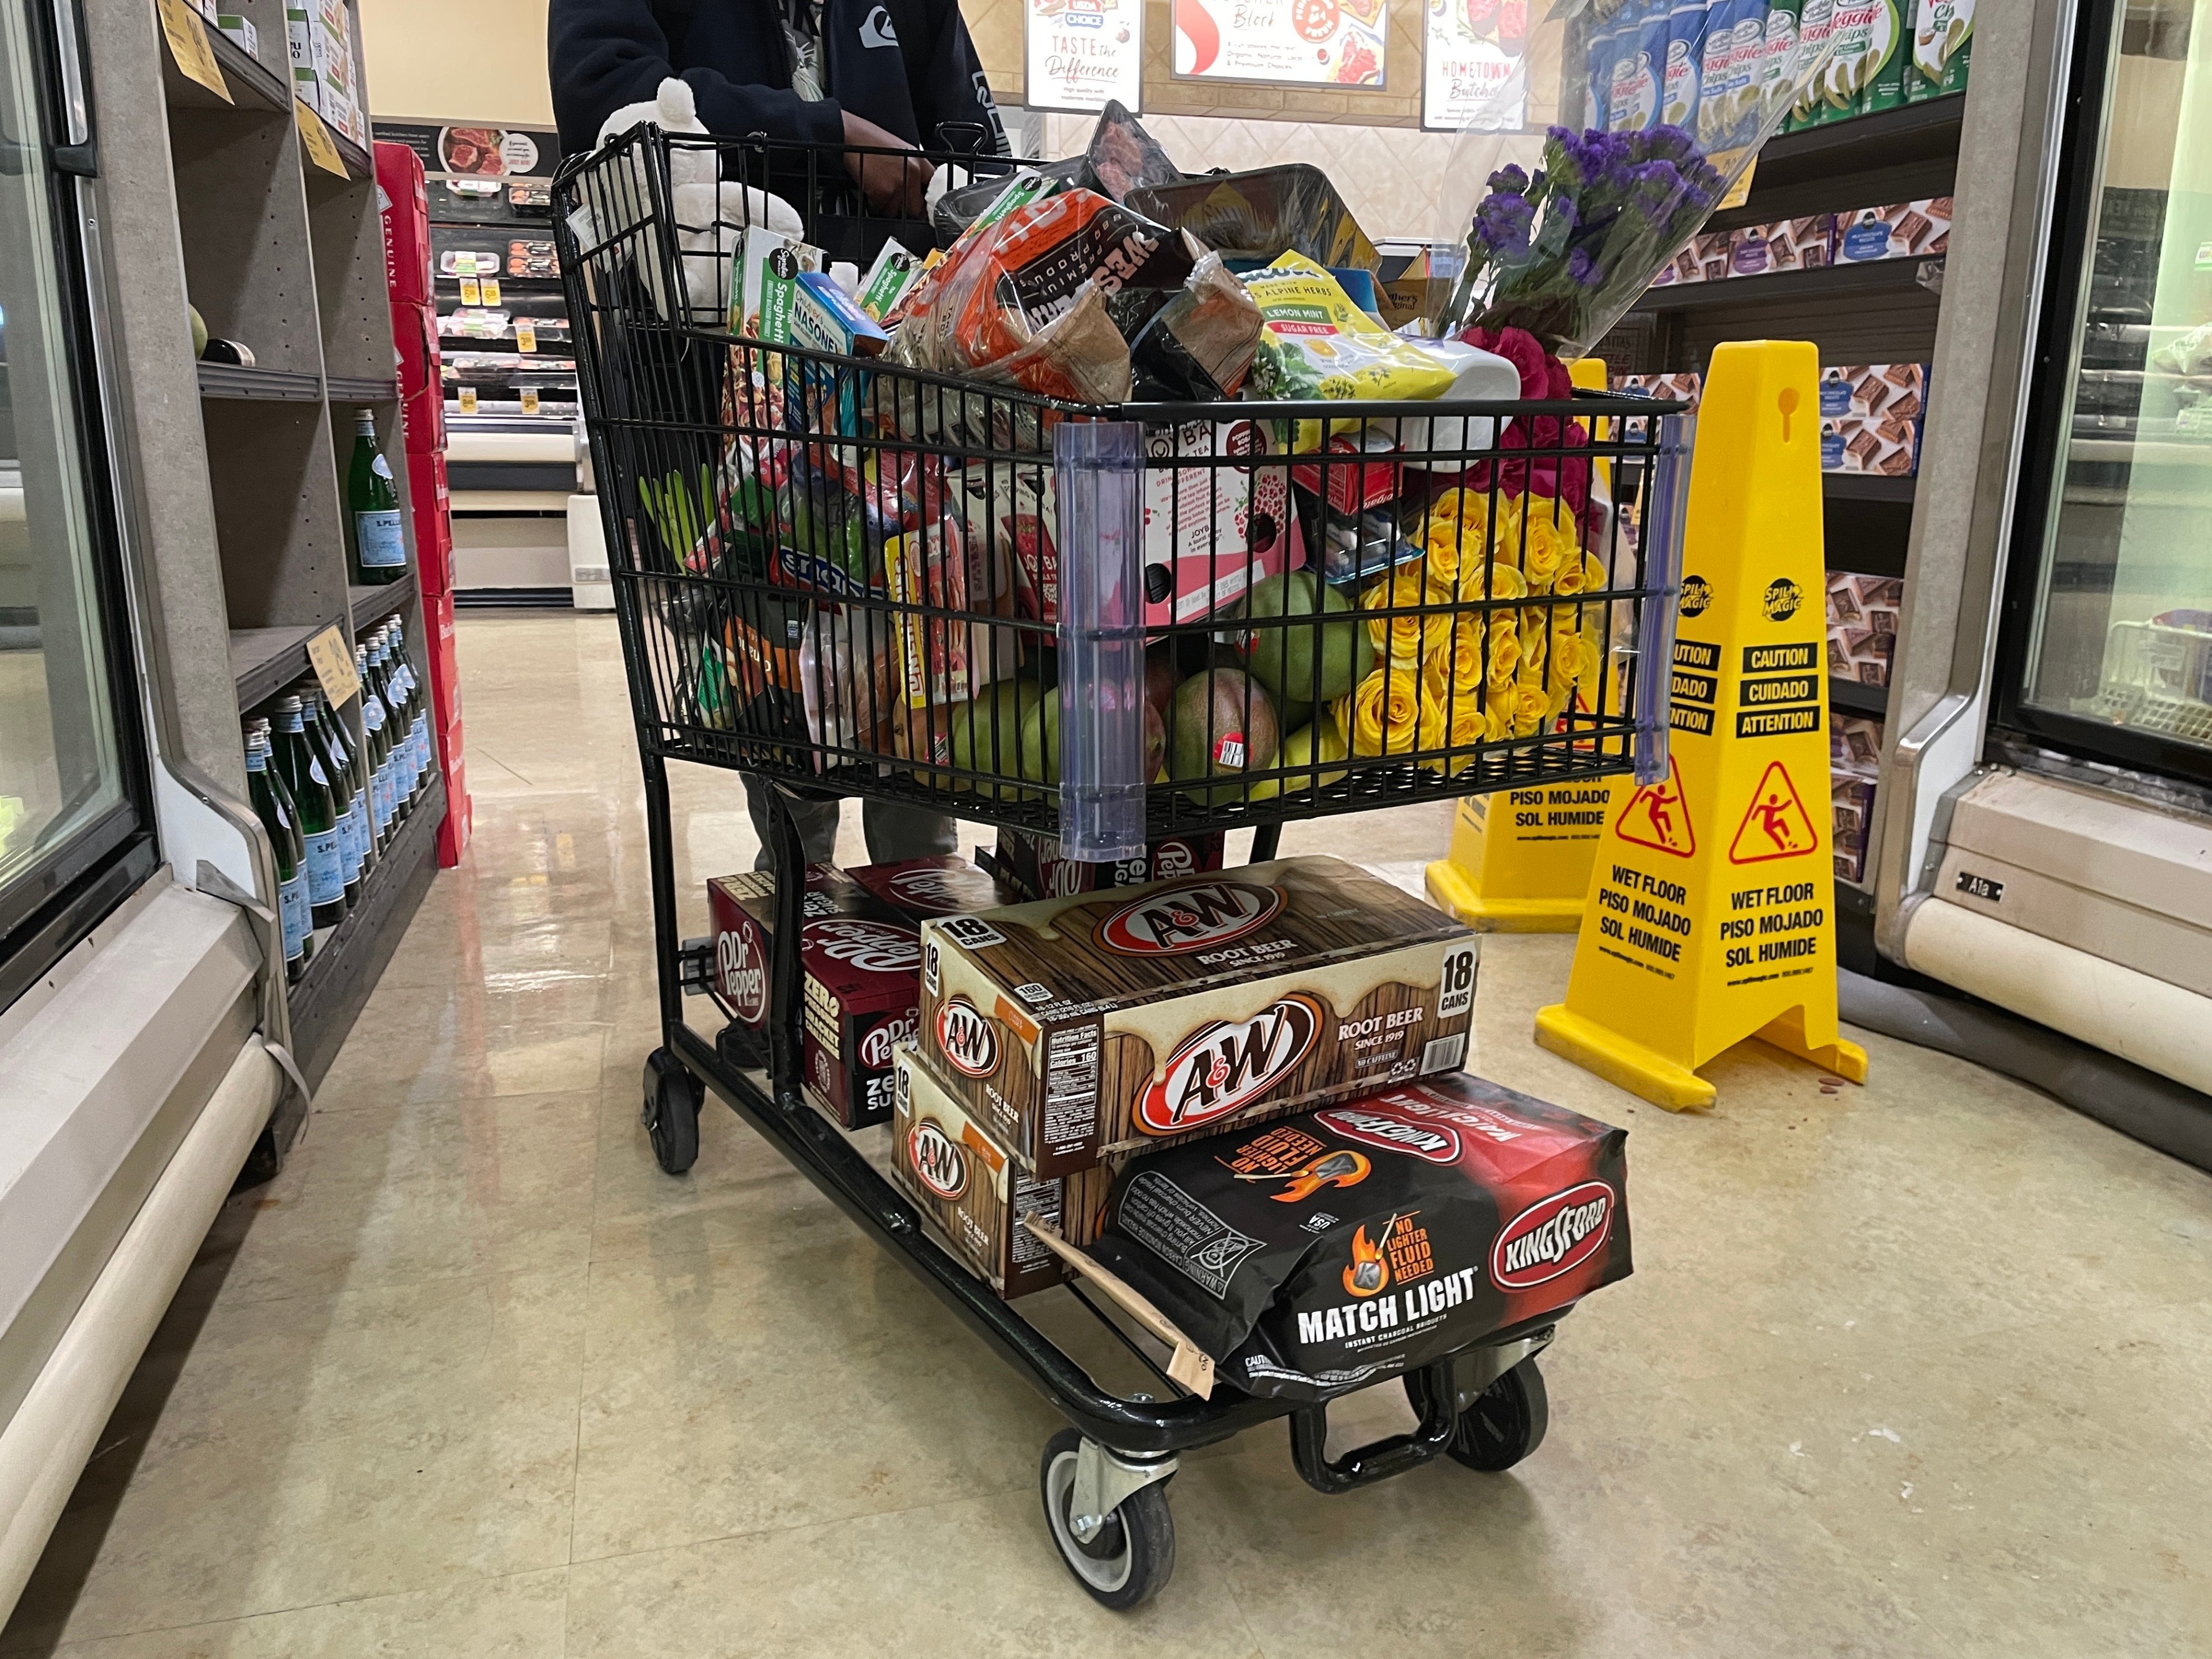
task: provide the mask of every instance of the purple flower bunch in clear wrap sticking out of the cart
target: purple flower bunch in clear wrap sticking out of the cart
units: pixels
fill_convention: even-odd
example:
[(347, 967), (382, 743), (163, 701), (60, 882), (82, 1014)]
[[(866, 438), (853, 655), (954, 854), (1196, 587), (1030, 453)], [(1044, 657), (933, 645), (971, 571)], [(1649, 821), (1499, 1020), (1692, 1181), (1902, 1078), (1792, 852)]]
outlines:
[(1533, 175), (1506, 166), (1489, 177), (1444, 319), (1586, 349), (1697, 234), (1723, 188), (1679, 126), (1553, 126)]

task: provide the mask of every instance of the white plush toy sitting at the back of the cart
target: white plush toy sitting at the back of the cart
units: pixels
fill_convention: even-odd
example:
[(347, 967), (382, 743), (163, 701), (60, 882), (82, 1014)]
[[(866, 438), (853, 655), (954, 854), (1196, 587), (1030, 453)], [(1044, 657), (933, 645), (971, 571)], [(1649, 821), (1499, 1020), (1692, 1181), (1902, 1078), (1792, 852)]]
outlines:
[[(633, 126), (659, 126), (664, 133), (699, 133), (699, 104), (690, 82), (670, 75), (659, 84), (650, 104), (624, 104), (599, 126), (599, 148), (628, 133)], [(668, 148), (668, 204), (675, 210), (677, 259), (684, 272), (686, 316), (697, 325), (717, 325), (726, 316), (730, 296), (730, 272), (737, 268), (739, 243), (745, 226), (768, 226), (785, 234), (803, 234), (805, 223), (799, 210), (783, 197), (757, 190), (750, 184), (732, 184), (721, 175), (721, 150), (708, 144), (677, 144)], [(653, 192), (644, 177), (644, 153), (630, 155), (624, 173), (586, 175), (584, 195), (591, 201), (595, 239), (606, 241), (644, 223), (653, 212)], [(644, 254), (646, 250), (639, 248)], [(668, 321), (679, 321), (666, 292), (661, 261), (641, 257), (637, 274), (653, 296), (653, 307)]]

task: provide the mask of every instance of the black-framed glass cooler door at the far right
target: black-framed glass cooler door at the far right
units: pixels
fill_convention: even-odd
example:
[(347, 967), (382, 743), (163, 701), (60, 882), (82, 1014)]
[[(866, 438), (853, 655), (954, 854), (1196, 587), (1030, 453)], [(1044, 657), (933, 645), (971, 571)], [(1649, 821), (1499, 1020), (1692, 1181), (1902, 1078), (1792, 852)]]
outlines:
[(2212, 0), (2081, 7), (1997, 723), (2212, 779)]

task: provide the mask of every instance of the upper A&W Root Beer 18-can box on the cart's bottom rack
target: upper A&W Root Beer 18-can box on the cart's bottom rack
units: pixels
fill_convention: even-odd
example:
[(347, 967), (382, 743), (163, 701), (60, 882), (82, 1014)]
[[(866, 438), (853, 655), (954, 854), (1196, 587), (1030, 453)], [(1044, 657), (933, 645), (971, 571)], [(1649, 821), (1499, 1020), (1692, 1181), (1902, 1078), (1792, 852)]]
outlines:
[(920, 1046), (1031, 1175), (1453, 1071), (1478, 940), (1340, 858), (922, 925)]

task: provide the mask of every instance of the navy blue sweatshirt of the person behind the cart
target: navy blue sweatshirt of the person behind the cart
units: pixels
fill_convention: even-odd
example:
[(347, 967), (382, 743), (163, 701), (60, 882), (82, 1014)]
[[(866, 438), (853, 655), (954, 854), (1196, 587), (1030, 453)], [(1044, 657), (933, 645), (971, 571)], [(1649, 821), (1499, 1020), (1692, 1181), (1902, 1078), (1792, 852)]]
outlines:
[(982, 148), (1006, 153), (958, 0), (827, 0), (821, 31), (827, 97), (807, 102), (792, 91), (783, 0), (551, 0), (562, 150), (588, 150), (608, 115), (681, 75), (721, 137), (843, 144), (852, 111), (925, 148), (947, 146), (947, 124), (980, 126)]

